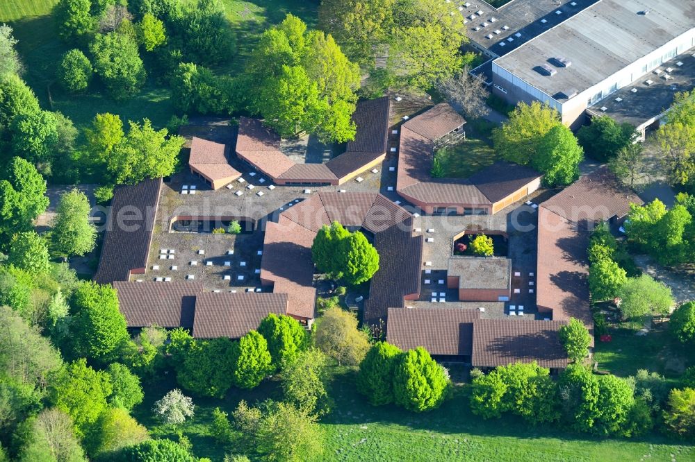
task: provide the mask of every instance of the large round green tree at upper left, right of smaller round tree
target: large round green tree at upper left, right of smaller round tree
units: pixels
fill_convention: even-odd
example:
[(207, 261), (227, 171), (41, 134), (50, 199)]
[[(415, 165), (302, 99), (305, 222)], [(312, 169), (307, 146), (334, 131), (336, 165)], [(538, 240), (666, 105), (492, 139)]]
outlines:
[(90, 53), (97, 75), (114, 99), (127, 99), (140, 92), (147, 72), (133, 37), (117, 32), (97, 34)]

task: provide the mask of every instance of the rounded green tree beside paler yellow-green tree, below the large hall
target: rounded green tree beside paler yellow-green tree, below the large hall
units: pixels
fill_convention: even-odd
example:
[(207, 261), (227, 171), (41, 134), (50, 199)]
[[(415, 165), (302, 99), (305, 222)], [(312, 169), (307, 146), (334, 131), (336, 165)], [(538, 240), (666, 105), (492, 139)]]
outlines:
[(531, 166), (543, 173), (544, 185), (566, 186), (579, 178), (579, 163), (583, 159), (582, 147), (571, 130), (556, 125), (540, 140), (531, 157)]

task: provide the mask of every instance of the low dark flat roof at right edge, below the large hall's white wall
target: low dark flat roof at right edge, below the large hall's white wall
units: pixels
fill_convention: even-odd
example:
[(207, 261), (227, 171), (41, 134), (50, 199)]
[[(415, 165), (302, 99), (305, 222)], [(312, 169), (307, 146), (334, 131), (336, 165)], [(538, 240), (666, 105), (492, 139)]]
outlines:
[[(695, 48), (676, 56), (660, 67), (660, 74), (654, 71), (635, 80), (633, 85), (619, 89), (598, 103), (589, 106), (593, 115), (609, 115), (616, 121), (632, 123), (635, 127), (652, 121), (671, 107), (677, 92), (689, 92), (695, 87)], [(678, 63), (681, 63), (679, 66)], [(667, 69), (671, 69), (668, 72)], [(657, 70), (655, 69), (655, 70)], [(669, 78), (664, 76), (668, 74)], [(650, 85), (646, 84), (651, 80)], [(633, 91), (637, 89), (637, 92)], [(620, 101), (617, 101), (617, 100)], [(605, 110), (602, 110), (605, 108)]]

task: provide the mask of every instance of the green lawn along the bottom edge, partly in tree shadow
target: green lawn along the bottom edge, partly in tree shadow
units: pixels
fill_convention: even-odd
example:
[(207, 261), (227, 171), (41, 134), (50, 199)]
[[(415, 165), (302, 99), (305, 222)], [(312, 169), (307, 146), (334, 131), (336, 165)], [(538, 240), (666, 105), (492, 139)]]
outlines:
[[(176, 431), (152, 419), (149, 411), (174, 384), (146, 386), (145, 403), (136, 418), (154, 436), (176, 438)], [(193, 443), (197, 456), (221, 461), (225, 452), (208, 436), (212, 410), (231, 412), (236, 403), (279, 397), (275, 382), (254, 391), (232, 390), (224, 400), (195, 398), (196, 416), (181, 430)], [(660, 436), (642, 440), (587, 438), (554, 427), (531, 427), (516, 418), (482, 420), (468, 411), (463, 388), (440, 409), (416, 414), (393, 406), (371, 407), (354, 391), (354, 373), (340, 370), (334, 379), (334, 411), (324, 418), (325, 453), (321, 461), (652, 461), (695, 459), (695, 448)], [(232, 452), (234, 447), (227, 448)]]

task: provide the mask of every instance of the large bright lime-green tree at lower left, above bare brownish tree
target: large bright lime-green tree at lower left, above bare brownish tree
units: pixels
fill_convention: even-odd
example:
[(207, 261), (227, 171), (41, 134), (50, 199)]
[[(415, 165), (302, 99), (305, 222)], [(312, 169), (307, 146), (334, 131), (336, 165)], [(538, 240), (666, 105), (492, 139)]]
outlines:
[(111, 395), (108, 373), (94, 370), (87, 366), (85, 359), (78, 359), (52, 377), (49, 402), (72, 417), (75, 433), (83, 437), (108, 407), (108, 395)]

